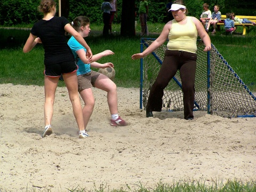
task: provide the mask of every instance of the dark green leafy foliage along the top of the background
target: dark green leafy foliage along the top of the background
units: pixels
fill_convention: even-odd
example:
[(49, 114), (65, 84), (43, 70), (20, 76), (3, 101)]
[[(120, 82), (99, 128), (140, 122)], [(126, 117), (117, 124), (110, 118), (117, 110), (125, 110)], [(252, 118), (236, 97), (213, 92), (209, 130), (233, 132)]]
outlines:
[[(58, 0), (55, 0), (58, 5)], [(125, 0), (117, 0), (118, 17), (114, 22), (121, 23), (122, 3)], [(139, 1), (135, 0), (137, 10)], [(188, 7), (189, 15), (199, 18), (203, 9), (203, 3), (209, 3), (210, 10), (213, 11), (215, 4), (220, 5), (222, 14), (234, 11), (237, 15), (256, 15), (255, 0), (183, 0)], [(102, 23), (101, 4), (103, 0), (69, 0), (68, 20), (72, 21), (79, 15), (85, 15), (93, 23)], [(166, 22), (166, 4), (168, 0), (148, 0), (150, 22)], [(127, 3), (127, 2), (126, 2)], [(129, 1), (131, 6), (134, 1)], [(42, 13), (37, 11), (39, 0), (1, 0), (0, 1), (0, 25), (12, 26), (19, 24), (32, 24), (42, 18)], [(126, 7), (127, 9), (127, 7)], [(125, 11), (124, 11), (125, 12)], [(58, 15), (58, 12), (57, 12)], [(134, 18), (130, 18), (134, 19)], [(138, 14), (136, 20), (139, 20)]]

